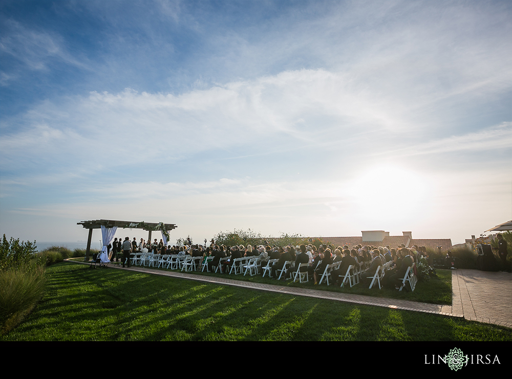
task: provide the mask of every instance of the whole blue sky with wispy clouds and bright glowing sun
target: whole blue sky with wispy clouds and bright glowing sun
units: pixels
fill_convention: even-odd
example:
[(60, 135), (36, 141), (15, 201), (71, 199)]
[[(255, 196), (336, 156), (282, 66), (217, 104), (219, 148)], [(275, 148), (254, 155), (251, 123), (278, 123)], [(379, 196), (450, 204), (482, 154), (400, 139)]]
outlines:
[(0, 233), (463, 242), (512, 219), (511, 20), (506, 1), (3, 1)]

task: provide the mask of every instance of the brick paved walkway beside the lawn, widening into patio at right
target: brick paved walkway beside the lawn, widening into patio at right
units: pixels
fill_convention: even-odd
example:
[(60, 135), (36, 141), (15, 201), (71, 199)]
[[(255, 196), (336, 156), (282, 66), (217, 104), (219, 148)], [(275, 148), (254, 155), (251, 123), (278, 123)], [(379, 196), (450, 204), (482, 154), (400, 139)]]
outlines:
[(153, 270), (138, 266), (132, 266), (130, 269), (122, 270), (170, 276), (212, 284), (232, 285), (280, 294), (316, 297), (355, 304), (413, 310), (417, 312), (447, 315), (452, 317), (463, 317), (466, 320), (473, 320), (512, 328), (512, 274), (506, 272), (486, 272), (479, 270), (461, 269), (453, 270), (452, 305), (438, 305), (419, 303), (409, 300), (396, 300), (376, 298), (371, 296), (342, 294), (322, 291), (321, 289), (287, 287), (279, 284), (244, 282), (241, 280), (224, 279), (213, 276)]

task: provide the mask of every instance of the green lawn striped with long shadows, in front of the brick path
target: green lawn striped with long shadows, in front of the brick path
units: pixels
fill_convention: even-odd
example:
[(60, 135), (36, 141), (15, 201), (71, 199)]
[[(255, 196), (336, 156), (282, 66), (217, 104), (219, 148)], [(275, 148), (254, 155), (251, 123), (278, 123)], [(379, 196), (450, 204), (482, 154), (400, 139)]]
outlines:
[(0, 341), (510, 341), (512, 329), (431, 314), (59, 263)]

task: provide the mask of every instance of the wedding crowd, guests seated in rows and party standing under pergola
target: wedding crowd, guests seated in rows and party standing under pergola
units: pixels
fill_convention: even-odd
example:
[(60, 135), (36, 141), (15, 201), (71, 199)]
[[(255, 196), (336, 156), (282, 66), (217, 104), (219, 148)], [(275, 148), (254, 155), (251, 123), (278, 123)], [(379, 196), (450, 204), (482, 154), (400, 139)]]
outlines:
[[(206, 240), (205, 240), (206, 241)], [(152, 241), (144, 241), (143, 238), (137, 242), (134, 237), (130, 242), (129, 237), (125, 237), (124, 241), (115, 238), (112, 243), (111, 261), (119, 260), (122, 252), (122, 263), (126, 262), (126, 256), (130, 253), (149, 253), (161, 255), (189, 255), (191, 257), (202, 257), (202, 262), (206, 262), (208, 257), (211, 259), (207, 262), (209, 271), (220, 269), (220, 272), (226, 273), (231, 269), (234, 260), (242, 257), (256, 257), (259, 267), (269, 266), (270, 277), (276, 279), (279, 276), (283, 280), (290, 278), (291, 275), (300, 267), (301, 263), (307, 263), (301, 267), (301, 272), (308, 273), (309, 280), (314, 284), (318, 284), (320, 278), (324, 274), (326, 267), (332, 263), (339, 263), (337, 269), (332, 270), (330, 277), (332, 282), (339, 285), (350, 266), (360, 267), (365, 272), (365, 278), (375, 274), (378, 267), (386, 262), (391, 262), (389, 270), (386, 272), (383, 283), (390, 287), (398, 287), (399, 281), (403, 278), (408, 267), (414, 262), (418, 262), (419, 257), (426, 256), (425, 247), (413, 246), (406, 248), (402, 246), (391, 249), (386, 247), (363, 246), (357, 244), (352, 248), (348, 245), (334, 247), (331, 244), (321, 244), (318, 248), (314, 244), (301, 244), (300, 246), (270, 246), (270, 244), (251, 246), (243, 244), (235, 246), (225, 246), (223, 244), (211, 243), (210, 246), (201, 244), (193, 244), (188, 238), (183, 246), (165, 246), (163, 239), (157, 242), (155, 238)], [(273, 262), (270, 264), (269, 262)], [(130, 266), (130, 259), (127, 259)], [(202, 265), (198, 267), (200, 270)], [(219, 267), (218, 267), (219, 266)], [(261, 270), (263, 271), (263, 270)], [(278, 275), (279, 273), (279, 275)], [(286, 274), (284, 274), (286, 273)], [(262, 275), (260, 273), (260, 275)]]

